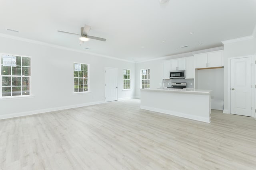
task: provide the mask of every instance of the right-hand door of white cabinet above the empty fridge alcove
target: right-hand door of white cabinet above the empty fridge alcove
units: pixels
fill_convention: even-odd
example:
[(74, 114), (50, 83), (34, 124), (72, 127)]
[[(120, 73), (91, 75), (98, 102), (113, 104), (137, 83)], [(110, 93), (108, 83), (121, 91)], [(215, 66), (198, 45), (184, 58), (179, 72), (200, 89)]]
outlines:
[(208, 67), (220, 67), (223, 64), (223, 51), (208, 53)]

